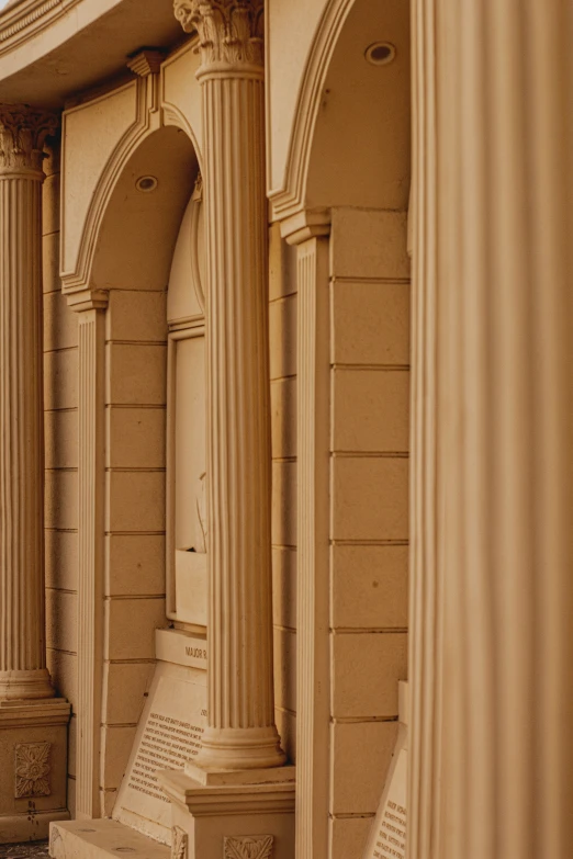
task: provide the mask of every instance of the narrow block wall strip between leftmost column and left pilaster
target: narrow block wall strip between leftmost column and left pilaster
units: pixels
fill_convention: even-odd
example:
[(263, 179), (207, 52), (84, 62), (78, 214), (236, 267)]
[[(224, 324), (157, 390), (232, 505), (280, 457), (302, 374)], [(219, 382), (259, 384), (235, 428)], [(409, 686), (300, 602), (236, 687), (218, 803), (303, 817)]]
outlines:
[[(44, 162), (44, 421), (47, 665), (74, 704), (78, 595), (78, 321), (59, 279), (59, 147)], [(74, 814), (77, 719), (69, 725), (68, 805)]]

